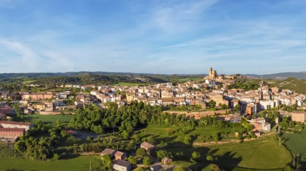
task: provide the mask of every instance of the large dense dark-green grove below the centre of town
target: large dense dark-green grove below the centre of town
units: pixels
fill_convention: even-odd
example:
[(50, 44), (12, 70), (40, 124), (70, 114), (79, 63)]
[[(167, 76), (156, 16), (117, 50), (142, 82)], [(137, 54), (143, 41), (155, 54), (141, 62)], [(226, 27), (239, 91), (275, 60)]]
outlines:
[(119, 127), (124, 137), (129, 137), (133, 129), (147, 124), (151, 117), (161, 113), (161, 107), (133, 102), (131, 105), (118, 109), (117, 104), (109, 105), (108, 109), (99, 109), (96, 105), (78, 109), (69, 126), (74, 129), (91, 130), (103, 133), (103, 127)]

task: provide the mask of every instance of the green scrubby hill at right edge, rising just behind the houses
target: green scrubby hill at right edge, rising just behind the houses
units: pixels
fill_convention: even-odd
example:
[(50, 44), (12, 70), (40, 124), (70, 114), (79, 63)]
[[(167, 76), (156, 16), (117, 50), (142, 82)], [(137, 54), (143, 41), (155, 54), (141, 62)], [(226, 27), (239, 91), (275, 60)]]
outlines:
[(306, 93), (306, 82), (298, 80), (296, 78), (287, 78), (282, 81), (276, 81), (271, 86), (277, 86), (280, 89), (290, 89), (297, 93)]

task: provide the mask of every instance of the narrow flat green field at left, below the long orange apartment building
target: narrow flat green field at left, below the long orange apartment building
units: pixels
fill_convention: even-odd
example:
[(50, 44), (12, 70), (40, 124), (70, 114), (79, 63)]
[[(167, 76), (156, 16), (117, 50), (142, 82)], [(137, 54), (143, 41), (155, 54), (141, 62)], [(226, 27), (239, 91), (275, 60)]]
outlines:
[(45, 123), (53, 122), (55, 123), (59, 119), (62, 123), (68, 123), (71, 120), (71, 115), (42, 115), (42, 114), (33, 114), (33, 115), (23, 115), (25, 121), (36, 122), (42, 121)]

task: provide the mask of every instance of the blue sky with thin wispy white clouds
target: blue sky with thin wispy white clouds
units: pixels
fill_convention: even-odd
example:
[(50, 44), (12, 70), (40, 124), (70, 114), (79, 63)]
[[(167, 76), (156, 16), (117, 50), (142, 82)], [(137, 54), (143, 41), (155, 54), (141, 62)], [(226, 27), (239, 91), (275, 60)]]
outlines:
[(0, 0), (0, 73), (305, 71), (305, 0)]

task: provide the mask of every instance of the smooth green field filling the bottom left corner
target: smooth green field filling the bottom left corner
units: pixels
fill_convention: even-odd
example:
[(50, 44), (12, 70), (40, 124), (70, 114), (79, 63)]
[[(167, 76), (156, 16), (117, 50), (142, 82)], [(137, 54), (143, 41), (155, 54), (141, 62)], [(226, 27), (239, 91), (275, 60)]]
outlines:
[(59, 161), (32, 161), (20, 158), (0, 157), (0, 169), (21, 169), (36, 171), (84, 171), (98, 169), (102, 166), (100, 159), (89, 156), (81, 156), (74, 159)]

